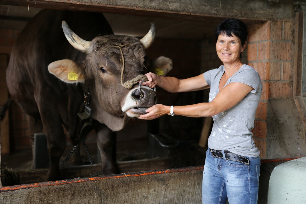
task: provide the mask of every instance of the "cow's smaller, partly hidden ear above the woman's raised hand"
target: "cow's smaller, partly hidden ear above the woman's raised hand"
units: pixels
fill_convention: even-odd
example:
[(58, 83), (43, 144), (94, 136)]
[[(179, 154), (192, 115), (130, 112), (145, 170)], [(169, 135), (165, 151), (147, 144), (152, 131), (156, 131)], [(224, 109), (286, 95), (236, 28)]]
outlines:
[(150, 61), (150, 72), (153, 72), (160, 76), (166, 76), (166, 74), (172, 69), (172, 60), (168, 57), (158, 57)]

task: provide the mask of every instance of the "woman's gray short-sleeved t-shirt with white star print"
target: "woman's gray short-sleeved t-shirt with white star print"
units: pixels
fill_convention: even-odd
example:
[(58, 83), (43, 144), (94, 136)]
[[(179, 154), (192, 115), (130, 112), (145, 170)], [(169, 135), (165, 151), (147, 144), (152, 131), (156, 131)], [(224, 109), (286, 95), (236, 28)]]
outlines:
[[(223, 65), (203, 73), (204, 79), (210, 86), (208, 102), (214, 100), (219, 93), (219, 82), (223, 73)], [(254, 128), (255, 113), (263, 85), (258, 72), (248, 65), (242, 65), (227, 80), (225, 86), (233, 82), (244, 83), (254, 89), (232, 108), (213, 116), (214, 124), (208, 138), (208, 147), (215, 150), (229, 150), (242, 156), (258, 157), (260, 151), (255, 146), (251, 130)]]

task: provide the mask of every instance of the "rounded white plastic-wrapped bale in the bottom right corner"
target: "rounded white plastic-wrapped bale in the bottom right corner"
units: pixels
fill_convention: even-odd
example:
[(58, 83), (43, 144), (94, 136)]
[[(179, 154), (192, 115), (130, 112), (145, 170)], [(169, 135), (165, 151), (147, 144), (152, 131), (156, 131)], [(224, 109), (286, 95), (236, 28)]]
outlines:
[(306, 157), (277, 165), (270, 176), (268, 204), (306, 203)]

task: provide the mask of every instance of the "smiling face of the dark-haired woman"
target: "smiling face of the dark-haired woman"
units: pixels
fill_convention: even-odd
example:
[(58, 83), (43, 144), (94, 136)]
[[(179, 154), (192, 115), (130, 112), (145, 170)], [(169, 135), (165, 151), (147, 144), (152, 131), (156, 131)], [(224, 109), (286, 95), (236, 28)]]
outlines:
[(233, 35), (233, 37), (229, 37), (221, 33), (216, 43), (218, 57), (223, 63), (226, 64), (240, 62), (240, 53), (244, 50), (244, 48), (245, 44), (242, 46), (240, 39), (235, 35)]

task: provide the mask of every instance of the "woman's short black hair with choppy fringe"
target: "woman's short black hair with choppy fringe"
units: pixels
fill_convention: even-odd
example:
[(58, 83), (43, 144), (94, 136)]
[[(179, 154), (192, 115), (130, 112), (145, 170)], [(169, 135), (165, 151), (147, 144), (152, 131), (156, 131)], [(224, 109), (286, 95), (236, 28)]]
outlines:
[(248, 28), (247, 25), (238, 19), (225, 19), (215, 29), (216, 40), (220, 34), (225, 34), (228, 37), (233, 37), (233, 34), (240, 39), (241, 46), (247, 41)]

